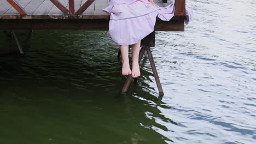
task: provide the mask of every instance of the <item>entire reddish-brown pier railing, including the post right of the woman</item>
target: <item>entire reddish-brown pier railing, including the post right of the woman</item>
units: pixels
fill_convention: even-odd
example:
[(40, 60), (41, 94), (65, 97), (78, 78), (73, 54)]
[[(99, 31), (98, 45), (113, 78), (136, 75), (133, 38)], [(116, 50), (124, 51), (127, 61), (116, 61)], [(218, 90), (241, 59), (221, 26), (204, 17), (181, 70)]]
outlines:
[[(76, 12), (74, 11), (74, 0), (69, 0), (69, 9), (67, 9), (61, 2), (58, 0), (50, 0), (58, 9), (62, 11), (63, 14), (69, 15), (81, 15), (84, 11), (95, 1), (88, 0), (86, 1)], [(7, 0), (10, 5), (18, 11), (20, 15), (27, 15), (25, 9), (16, 0)], [(162, 0), (162, 2), (167, 2), (167, 0)], [(175, 15), (176, 16), (185, 16), (185, 0), (175, 0)]]

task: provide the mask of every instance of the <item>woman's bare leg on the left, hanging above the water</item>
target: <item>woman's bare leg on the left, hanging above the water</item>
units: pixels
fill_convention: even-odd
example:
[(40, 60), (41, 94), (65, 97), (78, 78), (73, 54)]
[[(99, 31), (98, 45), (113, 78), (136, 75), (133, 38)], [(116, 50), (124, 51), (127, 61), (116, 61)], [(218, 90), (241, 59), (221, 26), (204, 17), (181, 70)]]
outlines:
[(130, 75), (131, 69), (129, 64), (129, 45), (120, 45), (121, 57), (123, 62), (122, 74)]

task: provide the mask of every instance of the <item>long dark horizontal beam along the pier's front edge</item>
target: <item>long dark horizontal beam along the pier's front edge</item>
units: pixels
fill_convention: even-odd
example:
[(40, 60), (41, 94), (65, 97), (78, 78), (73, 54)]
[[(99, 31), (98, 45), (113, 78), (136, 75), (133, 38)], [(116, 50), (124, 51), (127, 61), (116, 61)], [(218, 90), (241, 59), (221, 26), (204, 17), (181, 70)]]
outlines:
[[(80, 30), (108, 31), (109, 20), (100, 19), (53, 19), (52, 16), (31, 16), (32, 19), (1, 19), (0, 30)], [(45, 17), (45, 18), (43, 18)], [(184, 31), (184, 20), (156, 20), (155, 31)]]

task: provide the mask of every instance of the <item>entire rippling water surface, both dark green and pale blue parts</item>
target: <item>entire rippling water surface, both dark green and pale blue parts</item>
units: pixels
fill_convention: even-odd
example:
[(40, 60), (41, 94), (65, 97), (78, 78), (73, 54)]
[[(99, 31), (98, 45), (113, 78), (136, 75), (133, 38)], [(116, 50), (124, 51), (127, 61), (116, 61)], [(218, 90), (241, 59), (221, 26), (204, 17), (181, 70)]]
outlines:
[(187, 1), (185, 32), (156, 32), (120, 94), (118, 46), (102, 31), (0, 32), (0, 143), (255, 143), (256, 3)]

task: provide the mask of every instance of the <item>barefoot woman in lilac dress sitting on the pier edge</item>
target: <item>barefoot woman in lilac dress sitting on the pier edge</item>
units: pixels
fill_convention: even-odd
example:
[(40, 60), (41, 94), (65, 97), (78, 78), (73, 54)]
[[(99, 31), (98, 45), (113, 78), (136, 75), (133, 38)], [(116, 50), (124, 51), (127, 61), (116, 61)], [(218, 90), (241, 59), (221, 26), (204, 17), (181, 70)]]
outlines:
[[(174, 4), (160, 8), (153, 0), (111, 0), (104, 11), (110, 13), (110, 37), (120, 46), (122, 74), (132, 75), (133, 78), (140, 76), (138, 56), (141, 39), (154, 31), (156, 16), (164, 21), (171, 20)], [(132, 45), (132, 69), (129, 64), (129, 45)]]

